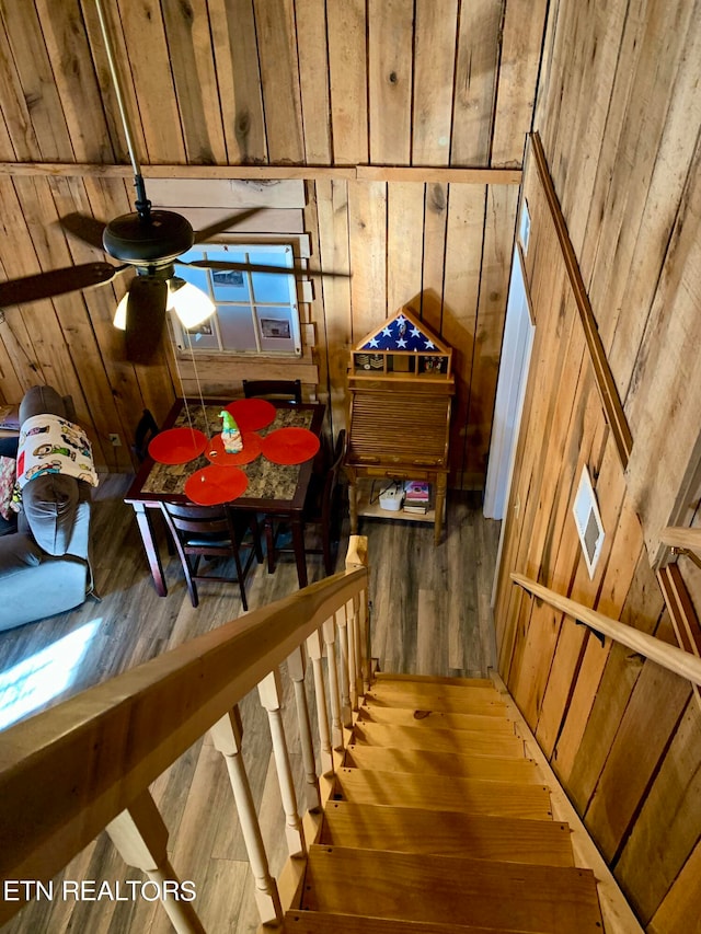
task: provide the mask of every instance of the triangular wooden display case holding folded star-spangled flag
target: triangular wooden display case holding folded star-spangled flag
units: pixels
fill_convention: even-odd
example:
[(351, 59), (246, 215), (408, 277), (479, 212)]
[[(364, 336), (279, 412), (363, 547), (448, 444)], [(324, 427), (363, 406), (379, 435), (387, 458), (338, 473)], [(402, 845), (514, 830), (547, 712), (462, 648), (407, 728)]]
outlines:
[(451, 378), (452, 348), (407, 308), (366, 334), (350, 351), (350, 373), (445, 381)]

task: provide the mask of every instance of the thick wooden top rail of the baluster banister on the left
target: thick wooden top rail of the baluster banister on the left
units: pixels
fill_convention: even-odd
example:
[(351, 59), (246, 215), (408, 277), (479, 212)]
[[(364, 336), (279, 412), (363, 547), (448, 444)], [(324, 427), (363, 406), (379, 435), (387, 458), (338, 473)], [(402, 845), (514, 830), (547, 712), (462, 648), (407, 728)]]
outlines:
[(51, 878), (367, 580), (327, 577), (10, 727), (2, 878)]

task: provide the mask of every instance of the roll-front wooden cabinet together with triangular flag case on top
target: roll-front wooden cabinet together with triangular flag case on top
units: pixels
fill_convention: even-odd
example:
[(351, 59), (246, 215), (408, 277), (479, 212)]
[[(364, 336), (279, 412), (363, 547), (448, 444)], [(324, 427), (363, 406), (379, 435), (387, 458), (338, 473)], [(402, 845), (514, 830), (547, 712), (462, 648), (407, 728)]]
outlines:
[[(451, 348), (407, 309), (367, 334), (350, 351), (345, 466), (353, 533), (357, 532), (358, 500), (365, 501), (359, 489), (365, 480), (427, 480), (435, 491), (435, 541), (440, 541), (455, 393), (451, 362)], [(380, 515), (407, 518), (401, 511)]]

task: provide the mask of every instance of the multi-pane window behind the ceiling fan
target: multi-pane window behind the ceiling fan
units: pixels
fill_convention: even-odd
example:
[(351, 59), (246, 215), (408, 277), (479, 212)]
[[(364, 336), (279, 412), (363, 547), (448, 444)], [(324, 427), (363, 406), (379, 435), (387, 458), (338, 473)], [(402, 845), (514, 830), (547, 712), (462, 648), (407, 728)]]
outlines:
[[(292, 247), (280, 244), (208, 243), (181, 257), (292, 268)], [(206, 292), (217, 311), (192, 330), (173, 318), (181, 350), (206, 354), (301, 356), (297, 282), (294, 275), (177, 266), (176, 275)]]

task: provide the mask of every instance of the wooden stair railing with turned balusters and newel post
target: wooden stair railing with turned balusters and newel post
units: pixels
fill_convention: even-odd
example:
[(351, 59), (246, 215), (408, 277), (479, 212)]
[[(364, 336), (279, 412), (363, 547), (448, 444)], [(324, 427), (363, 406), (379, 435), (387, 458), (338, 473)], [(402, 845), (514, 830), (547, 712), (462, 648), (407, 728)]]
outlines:
[[(203, 932), (192, 904), (193, 884), (181, 883), (170, 865), (168, 829), (149, 786), (206, 731), (227, 764), (261, 921), (281, 921), (283, 899), (271, 875), (241, 754), (238, 704), (257, 687), (271, 726), (288, 851), (291, 857), (304, 856), (304, 819), (322, 804), (304, 690), (307, 659), (317, 699), (320, 774), (330, 776), (334, 750), (344, 741), (346, 708), (357, 702), (358, 683), (361, 689), (361, 679), (369, 678), (367, 606), (367, 540), (352, 535), (345, 573), (253, 610), (5, 730), (0, 740), (0, 923), (32, 897), (26, 880), (48, 890), (53, 877), (106, 829), (125, 862), (148, 876), (145, 885), (154, 887), (149, 900), (161, 898), (175, 930)], [(280, 715), (284, 662), (297, 706), (304, 818)], [(298, 885), (302, 868), (288, 886)]]

